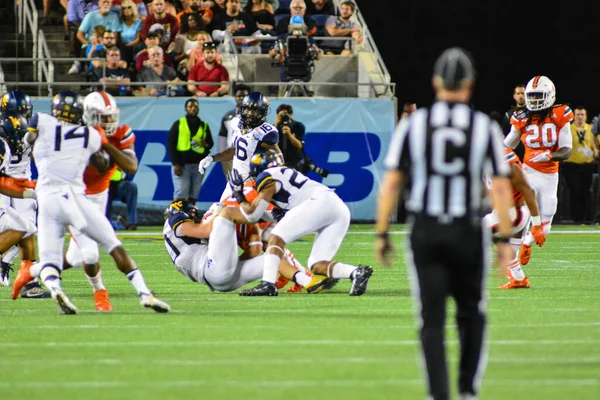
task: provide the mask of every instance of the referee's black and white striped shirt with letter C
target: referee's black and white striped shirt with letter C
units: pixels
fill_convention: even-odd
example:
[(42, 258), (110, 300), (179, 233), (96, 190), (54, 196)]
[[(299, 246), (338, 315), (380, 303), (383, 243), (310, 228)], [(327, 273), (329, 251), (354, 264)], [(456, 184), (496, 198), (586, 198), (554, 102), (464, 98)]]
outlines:
[(509, 176), (500, 126), (464, 103), (436, 102), (398, 124), (384, 164), (404, 172), (406, 209), (442, 224), (482, 214), (482, 176)]

